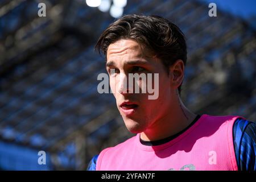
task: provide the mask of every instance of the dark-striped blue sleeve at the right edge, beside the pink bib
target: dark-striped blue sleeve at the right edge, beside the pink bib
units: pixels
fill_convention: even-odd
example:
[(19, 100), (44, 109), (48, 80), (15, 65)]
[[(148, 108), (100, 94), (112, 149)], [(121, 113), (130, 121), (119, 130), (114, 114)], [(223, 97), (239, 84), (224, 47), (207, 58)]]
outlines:
[(237, 119), (233, 127), (234, 149), (238, 170), (256, 171), (256, 125), (245, 119)]

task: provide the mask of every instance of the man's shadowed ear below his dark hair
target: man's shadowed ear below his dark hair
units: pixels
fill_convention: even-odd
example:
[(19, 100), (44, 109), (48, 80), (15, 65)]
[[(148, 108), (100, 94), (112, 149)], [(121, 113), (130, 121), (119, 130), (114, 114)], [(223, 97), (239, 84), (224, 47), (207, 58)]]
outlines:
[(184, 63), (181, 59), (175, 61), (173, 65), (170, 67), (170, 74), (171, 74), (171, 85), (174, 88), (178, 88), (184, 78)]

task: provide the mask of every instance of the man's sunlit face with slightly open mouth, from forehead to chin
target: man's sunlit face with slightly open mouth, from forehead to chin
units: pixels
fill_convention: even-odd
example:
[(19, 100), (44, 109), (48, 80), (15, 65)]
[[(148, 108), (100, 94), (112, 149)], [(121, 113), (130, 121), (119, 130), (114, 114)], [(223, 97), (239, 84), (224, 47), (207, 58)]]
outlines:
[[(159, 119), (170, 112), (171, 89), (170, 76), (159, 59), (145, 55), (141, 46), (131, 39), (121, 39), (110, 44), (107, 51), (106, 69), (110, 77), (110, 88), (114, 94), (117, 108), (122, 115), (125, 125), (132, 133), (141, 133), (154, 126)], [(110, 73), (110, 69), (115, 71)], [(129, 73), (152, 73), (152, 88), (155, 82), (159, 84), (158, 98), (148, 100), (147, 93), (129, 93)], [(154, 80), (154, 73), (159, 73), (159, 79)], [(148, 76), (147, 76), (148, 78)], [(127, 92), (124, 92), (125, 81), (127, 80)], [(148, 80), (148, 79), (147, 79)], [(140, 86), (146, 84), (139, 80)], [(133, 87), (134, 88), (134, 87)], [(125, 89), (126, 90), (126, 89)]]

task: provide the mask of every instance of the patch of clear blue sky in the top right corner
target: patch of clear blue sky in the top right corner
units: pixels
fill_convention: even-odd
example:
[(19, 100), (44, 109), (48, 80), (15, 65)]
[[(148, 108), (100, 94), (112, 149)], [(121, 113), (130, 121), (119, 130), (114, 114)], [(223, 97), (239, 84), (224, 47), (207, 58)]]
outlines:
[(251, 15), (256, 16), (255, 0), (202, 0), (208, 3), (214, 2), (220, 9), (229, 11), (232, 14), (249, 18)]

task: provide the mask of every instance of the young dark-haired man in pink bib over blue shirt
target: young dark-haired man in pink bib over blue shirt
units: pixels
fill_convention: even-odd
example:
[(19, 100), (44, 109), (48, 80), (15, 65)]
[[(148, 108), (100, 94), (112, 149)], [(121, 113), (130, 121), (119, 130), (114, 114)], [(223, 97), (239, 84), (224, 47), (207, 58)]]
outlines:
[[(126, 15), (110, 24), (96, 48), (106, 56), (123, 121), (137, 135), (101, 151), (88, 170), (256, 169), (253, 122), (234, 115), (198, 115), (181, 101), (187, 46), (175, 24), (160, 16)], [(134, 93), (129, 73), (158, 73), (152, 81), (159, 84), (158, 98)]]

